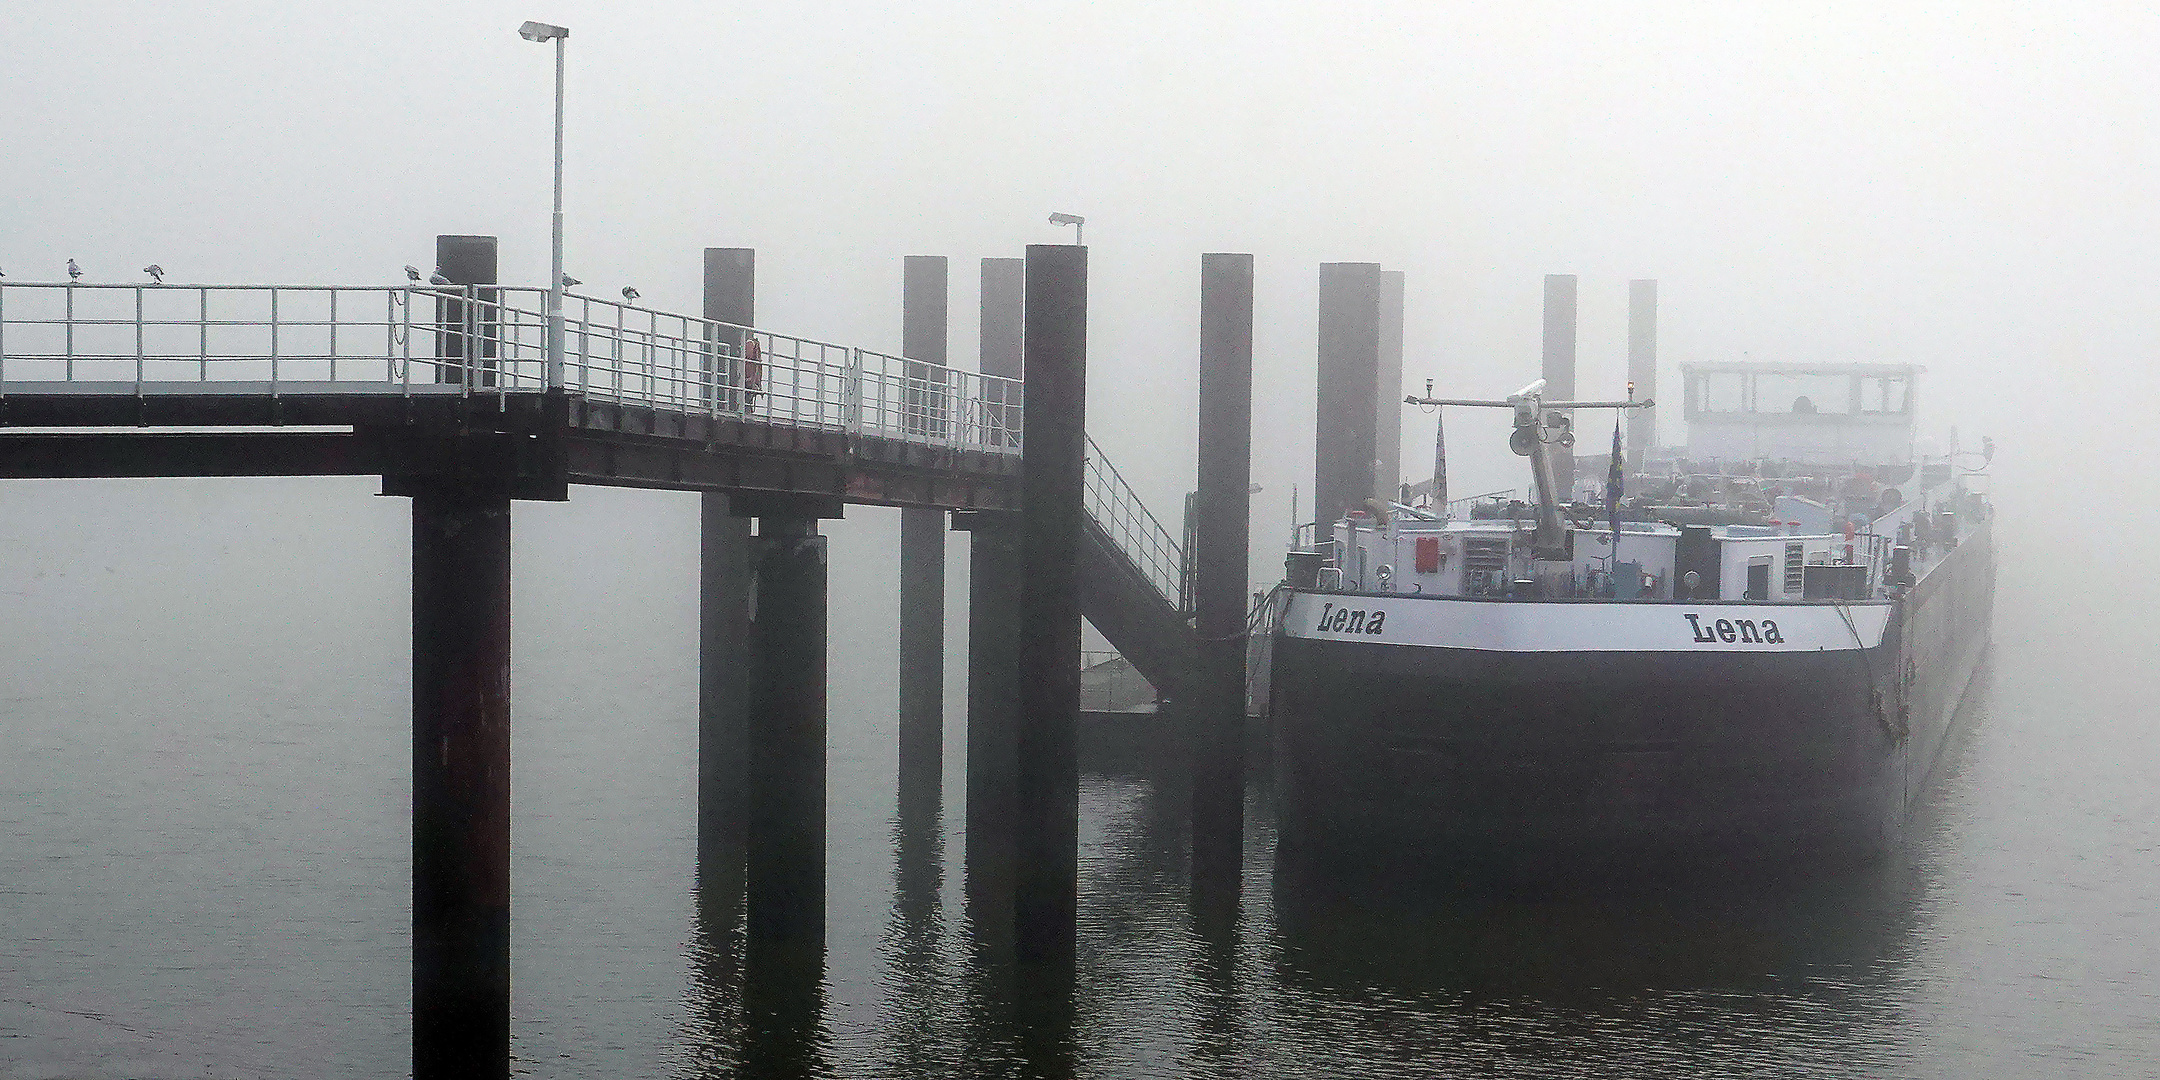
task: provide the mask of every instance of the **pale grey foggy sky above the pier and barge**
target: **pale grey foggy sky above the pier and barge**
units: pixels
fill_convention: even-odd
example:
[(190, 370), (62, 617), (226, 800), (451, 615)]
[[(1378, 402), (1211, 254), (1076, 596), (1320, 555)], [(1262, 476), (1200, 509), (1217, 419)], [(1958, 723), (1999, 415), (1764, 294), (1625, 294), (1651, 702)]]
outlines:
[[(0, 270), (395, 283), (499, 233), (538, 285), (527, 17), (572, 30), (598, 296), (696, 311), (698, 248), (756, 246), (762, 326), (894, 350), (901, 257), (948, 255), (972, 365), (976, 259), (1086, 214), (1089, 428), (1158, 514), (1192, 480), (1199, 255), (1255, 253), (1255, 572), (1309, 505), (1320, 261), (1408, 272), (1410, 389), (1534, 378), (1540, 276), (1572, 272), (1583, 395), (1620, 391), (1655, 276), (1674, 404), (1678, 361), (1912, 361), (1929, 430), (2071, 469), (2115, 410), (2074, 393), (2156, 400), (2160, 19), (2130, 4), (6, 4)], [(1525, 486), (1501, 423), (1449, 423), (1456, 490)]]

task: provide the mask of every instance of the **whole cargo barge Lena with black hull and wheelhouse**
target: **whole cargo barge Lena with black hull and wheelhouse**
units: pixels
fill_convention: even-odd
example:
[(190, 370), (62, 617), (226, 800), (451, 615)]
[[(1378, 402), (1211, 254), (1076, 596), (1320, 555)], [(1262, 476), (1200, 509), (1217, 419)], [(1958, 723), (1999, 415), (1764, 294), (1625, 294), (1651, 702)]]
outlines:
[(1536, 499), (1449, 505), (1436, 454), (1428, 505), (1294, 540), (1255, 650), (1285, 845), (1432, 870), (1899, 840), (1987, 646), (1994, 447), (1916, 443), (1912, 365), (1683, 372), (1689, 445), (1622, 475), (1616, 430), (1603, 505), (1549, 447), (1637, 402), (1408, 400), (1512, 408)]

